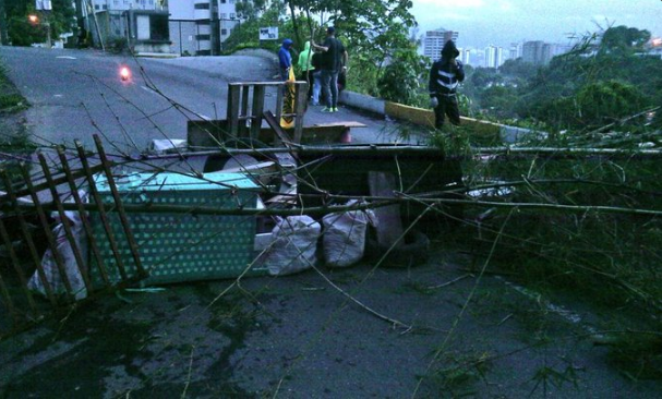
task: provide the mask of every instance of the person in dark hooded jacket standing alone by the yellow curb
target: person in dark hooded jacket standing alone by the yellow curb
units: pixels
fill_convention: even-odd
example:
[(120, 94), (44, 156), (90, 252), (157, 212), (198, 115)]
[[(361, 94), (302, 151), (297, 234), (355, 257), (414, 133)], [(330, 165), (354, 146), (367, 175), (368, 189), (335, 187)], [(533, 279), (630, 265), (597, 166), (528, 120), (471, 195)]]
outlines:
[(434, 109), (434, 128), (444, 125), (444, 118), (450, 123), (460, 124), (460, 111), (457, 104), (456, 89), (465, 80), (465, 69), (461, 61), (456, 60), (460, 55), (455, 41), (448, 40), (442, 49), (442, 59), (432, 64), (430, 70), (430, 107)]

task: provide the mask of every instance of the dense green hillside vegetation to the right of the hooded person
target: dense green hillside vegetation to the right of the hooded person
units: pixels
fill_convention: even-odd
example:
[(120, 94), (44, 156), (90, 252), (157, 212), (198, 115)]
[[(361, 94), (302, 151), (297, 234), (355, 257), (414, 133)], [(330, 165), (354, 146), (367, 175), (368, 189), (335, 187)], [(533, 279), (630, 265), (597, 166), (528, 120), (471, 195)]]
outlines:
[(646, 55), (649, 39), (647, 31), (610, 27), (542, 68), (517, 59), (498, 71), (473, 70), (466, 93), (490, 118), (597, 129), (662, 104), (662, 60)]

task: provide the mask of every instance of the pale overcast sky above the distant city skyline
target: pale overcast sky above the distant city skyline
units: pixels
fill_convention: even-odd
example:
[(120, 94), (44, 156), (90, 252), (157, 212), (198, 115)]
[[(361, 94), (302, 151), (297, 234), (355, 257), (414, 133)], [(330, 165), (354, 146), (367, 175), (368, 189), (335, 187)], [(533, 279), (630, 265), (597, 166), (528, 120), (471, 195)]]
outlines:
[(661, 0), (412, 0), (419, 34), (459, 32), (458, 47), (521, 40), (568, 43), (570, 34), (626, 25), (662, 36)]

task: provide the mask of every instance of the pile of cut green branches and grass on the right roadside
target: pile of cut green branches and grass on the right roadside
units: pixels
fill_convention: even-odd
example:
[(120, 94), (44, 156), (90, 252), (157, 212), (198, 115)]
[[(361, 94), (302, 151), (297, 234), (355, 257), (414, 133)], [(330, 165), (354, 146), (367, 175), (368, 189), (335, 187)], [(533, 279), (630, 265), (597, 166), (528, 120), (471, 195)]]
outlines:
[[(471, 250), (491, 253), (491, 266), (511, 273), (511, 279), (525, 287), (567, 292), (604, 310), (618, 321), (611, 329), (662, 330), (662, 322), (650, 316), (662, 311), (662, 218), (636, 213), (661, 209), (657, 165), (655, 158), (636, 156), (503, 156), (483, 161), (468, 169), (478, 173), (467, 178), (469, 184), (511, 183), (508, 194), (489, 201), (566, 208), (494, 208), (481, 220), (480, 233), (476, 225), (466, 229), (474, 234)], [(476, 208), (474, 215), (484, 211)], [(495, 240), (498, 244), (493, 246)], [(544, 312), (519, 316), (533, 330), (544, 330)], [(660, 353), (660, 340), (624, 336), (611, 346), (613, 364), (619, 370), (628, 365), (624, 373), (633, 378), (660, 378), (662, 361), (651, 355)]]

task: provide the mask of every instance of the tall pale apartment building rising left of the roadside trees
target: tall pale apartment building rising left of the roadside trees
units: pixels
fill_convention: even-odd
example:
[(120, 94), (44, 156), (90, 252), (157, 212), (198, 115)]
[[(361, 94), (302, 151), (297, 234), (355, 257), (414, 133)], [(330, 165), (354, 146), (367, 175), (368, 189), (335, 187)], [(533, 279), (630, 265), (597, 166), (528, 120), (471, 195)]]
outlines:
[(170, 39), (180, 55), (213, 56), (220, 52), (232, 31), (241, 26), (237, 0), (178, 0), (169, 2)]

